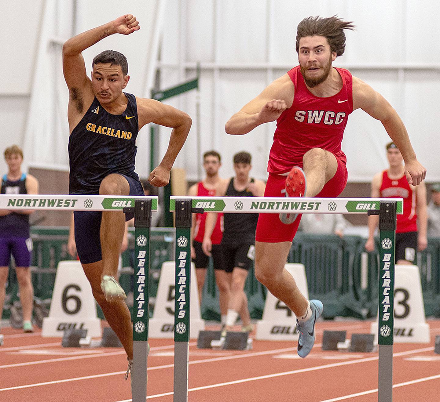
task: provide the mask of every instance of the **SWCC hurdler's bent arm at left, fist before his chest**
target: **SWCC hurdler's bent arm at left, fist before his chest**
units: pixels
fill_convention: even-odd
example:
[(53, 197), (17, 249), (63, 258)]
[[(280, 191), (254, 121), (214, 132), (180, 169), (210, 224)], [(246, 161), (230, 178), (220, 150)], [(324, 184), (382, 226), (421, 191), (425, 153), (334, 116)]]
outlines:
[(287, 74), (277, 78), (227, 121), (227, 134), (246, 134), (260, 124), (277, 120), (292, 106), (294, 92), (295, 87)]

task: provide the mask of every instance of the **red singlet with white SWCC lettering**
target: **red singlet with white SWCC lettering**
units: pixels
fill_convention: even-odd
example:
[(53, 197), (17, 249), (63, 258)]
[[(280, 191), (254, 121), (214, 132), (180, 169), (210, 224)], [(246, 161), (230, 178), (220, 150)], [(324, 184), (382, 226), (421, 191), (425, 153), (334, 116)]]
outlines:
[(353, 111), (353, 78), (345, 69), (341, 91), (328, 98), (313, 95), (305, 85), (300, 66), (287, 74), (295, 85), (293, 104), (277, 120), (274, 142), (269, 155), (268, 172), (282, 174), (294, 166), (302, 167), (304, 154), (312, 148), (332, 152), (344, 163), (342, 136), (348, 115)]

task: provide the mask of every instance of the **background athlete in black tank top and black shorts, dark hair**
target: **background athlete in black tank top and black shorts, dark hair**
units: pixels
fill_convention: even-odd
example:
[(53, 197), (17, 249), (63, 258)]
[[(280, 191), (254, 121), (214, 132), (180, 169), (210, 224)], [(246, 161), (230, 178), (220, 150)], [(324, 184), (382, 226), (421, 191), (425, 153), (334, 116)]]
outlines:
[[(252, 168), (249, 152), (238, 152), (234, 155), (233, 160), (235, 177), (219, 186), (218, 196), (262, 197), (265, 188), (264, 182), (249, 177)], [(205, 235), (202, 243), (203, 251), (206, 254), (211, 252), (211, 234), (216, 219), (216, 213), (209, 213), (206, 217)], [(253, 261), (257, 220), (258, 214), (224, 214), (224, 233), (221, 245), (226, 272), (232, 272), (226, 331), (232, 329), (238, 314), (241, 315), (244, 330), (252, 330), (244, 286)]]

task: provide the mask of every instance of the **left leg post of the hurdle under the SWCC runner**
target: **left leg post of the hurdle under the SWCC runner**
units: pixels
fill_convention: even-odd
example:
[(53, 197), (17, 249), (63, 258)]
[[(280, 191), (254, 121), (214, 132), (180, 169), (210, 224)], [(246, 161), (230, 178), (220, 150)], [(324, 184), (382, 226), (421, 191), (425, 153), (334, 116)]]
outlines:
[(188, 401), (192, 200), (176, 199), (174, 402)]

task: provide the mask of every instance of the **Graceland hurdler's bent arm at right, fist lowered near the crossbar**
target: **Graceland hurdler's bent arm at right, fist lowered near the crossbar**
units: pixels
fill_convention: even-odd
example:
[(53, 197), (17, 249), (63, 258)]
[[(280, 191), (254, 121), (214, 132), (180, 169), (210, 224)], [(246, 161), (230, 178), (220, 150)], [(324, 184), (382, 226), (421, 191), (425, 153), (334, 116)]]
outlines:
[(139, 129), (147, 123), (172, 127), (168, 149), (159, 166), (148, 177), (151, 185), (163, 187), (169, 182), (169, 172), (177, 155), (185, 143), (192, 120), (187, 113), (154, 99), (136, 98), (138, 105)]

